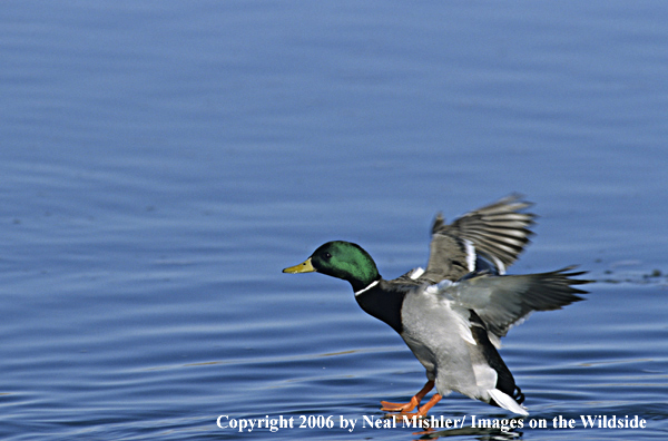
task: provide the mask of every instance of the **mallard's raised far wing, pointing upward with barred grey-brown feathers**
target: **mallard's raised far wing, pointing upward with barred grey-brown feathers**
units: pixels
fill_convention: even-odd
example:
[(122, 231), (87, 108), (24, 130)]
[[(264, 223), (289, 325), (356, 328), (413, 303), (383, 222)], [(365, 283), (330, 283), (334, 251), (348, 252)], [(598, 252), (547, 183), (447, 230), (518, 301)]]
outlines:
[[(445, 224), (439, 214), (432, 227), (432, 241), (425, 282), (456, 281), (477, 270), (483, 258), (491, 270), (503, 274), (529, 244), (529, 229), (536, 215), (522, 210), (531, 206), (519, 195), (507, 196)], [(478, 268), (480, 270), (480, 268)]]

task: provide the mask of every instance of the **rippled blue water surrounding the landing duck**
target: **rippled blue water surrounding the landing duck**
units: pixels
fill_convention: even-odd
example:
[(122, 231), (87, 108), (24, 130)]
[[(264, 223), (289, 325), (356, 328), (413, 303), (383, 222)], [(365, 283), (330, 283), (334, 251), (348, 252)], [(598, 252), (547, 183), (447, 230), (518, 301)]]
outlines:
[[(281, 270), (341, 238), (397, 276), (424, 265), (436, 212), (521, 192), (541, 217), (511, 272), (580, 264), (597, 283), (504, 340), (531, 412), (515, 435), (666, 439), (666, 13), (3, 2), (0, 438), (420, 438), (361, 425), (423, 384), (401, 339), (347, 284)], [(511, 416), (458, 394), (432, 413)], [(559, 415), (577, 427), (528, 427)]]

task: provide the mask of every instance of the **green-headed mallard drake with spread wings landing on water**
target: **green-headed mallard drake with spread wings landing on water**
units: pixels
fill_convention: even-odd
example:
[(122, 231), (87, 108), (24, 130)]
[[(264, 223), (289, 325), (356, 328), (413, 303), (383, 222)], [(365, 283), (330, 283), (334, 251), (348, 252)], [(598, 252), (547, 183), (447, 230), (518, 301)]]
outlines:
[[(429, 261), (394, 278), (383, 278), (360, 245), (332, 241), (284, 273), (316, 272), (348, 282), (360, 307), (403, 339), (426, 371), (426, 383), (406, 403), (381, 401), (381, 410), (423, 418), (455, 391), (528, 415), (524, 394), (498, 349), (511, 326), (536, 311), (560, 310), (583, 300), (574, 266), (509, 275), (530, 243), (532, 204), (510, 195), (446, 224), (432, 224)], [(433, 389), (436, 392), (422, 404)], [(413, 410), (416, 410), (413, 412)]]

